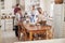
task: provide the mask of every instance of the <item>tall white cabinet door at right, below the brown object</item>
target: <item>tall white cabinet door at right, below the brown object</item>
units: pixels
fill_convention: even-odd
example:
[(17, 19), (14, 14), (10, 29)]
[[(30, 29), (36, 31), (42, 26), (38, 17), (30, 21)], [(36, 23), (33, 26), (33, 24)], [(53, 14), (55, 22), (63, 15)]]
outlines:
[(54, 38), (63, 38), (63, 4), (54, 4)]

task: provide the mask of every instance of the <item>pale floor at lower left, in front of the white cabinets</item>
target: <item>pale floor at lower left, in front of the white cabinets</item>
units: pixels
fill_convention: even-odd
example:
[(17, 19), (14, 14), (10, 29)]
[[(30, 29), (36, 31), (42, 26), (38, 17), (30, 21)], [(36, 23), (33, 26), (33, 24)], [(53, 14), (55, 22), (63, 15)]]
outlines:
[(2, 43), (14, 43), (18, 41), (17, 38), (15, 37), (14, 31), (12, 30), (2, 31), (1, 35)]

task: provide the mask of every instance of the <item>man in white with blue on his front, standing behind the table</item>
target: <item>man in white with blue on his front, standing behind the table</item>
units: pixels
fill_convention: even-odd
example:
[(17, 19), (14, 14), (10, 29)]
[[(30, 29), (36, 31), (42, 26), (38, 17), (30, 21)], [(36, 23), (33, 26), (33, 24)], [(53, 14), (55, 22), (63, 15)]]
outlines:
[(30, 23), (32, 24), (37, 23), (37, 15), (38, 15), (38, 11), (35, 9), (35, 5), (32, 5), (30, 11)]

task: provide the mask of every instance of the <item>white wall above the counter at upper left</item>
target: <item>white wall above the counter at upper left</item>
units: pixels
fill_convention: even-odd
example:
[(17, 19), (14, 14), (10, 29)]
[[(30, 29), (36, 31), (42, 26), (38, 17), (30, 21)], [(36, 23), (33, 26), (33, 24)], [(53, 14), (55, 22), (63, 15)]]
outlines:
[(4, 9), (1, 9), (1, 14), (5, 13), (6, 15), (13, 13), (12, 6), (16, 4), (16, 0), (4, 0)]

